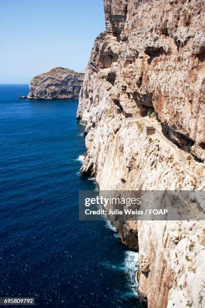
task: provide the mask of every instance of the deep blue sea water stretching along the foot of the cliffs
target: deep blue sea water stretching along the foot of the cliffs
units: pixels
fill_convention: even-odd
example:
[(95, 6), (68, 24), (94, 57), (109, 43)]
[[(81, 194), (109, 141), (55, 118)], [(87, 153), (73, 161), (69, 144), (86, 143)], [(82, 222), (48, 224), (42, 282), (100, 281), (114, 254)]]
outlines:
[(28, 101), (0, 85), (0, 296), (39, 307), (142, 307), (137, 253), (106, 221), (78, 221), (84, 127), (77, 101)]

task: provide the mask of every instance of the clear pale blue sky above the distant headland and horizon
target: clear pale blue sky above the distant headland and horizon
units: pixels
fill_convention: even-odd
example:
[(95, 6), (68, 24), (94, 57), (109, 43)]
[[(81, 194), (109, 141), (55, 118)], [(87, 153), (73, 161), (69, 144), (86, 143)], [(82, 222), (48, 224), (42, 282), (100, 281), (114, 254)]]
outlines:
[(82, 71), (105, 29), (103, 0), (0, 0), (0, 83), (56, 66)]

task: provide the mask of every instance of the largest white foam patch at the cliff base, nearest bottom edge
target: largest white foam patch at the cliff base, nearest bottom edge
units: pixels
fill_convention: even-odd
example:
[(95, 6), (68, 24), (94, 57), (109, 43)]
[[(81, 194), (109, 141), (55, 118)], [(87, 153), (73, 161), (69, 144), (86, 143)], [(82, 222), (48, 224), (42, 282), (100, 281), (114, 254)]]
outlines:
[(126, 278), (129, 283), (129, 287), (132, 291), (132, 295), (139, 297), (137, 293), (138, 253), (135, 251), (126, 251), (124, 265), (125, 265)]

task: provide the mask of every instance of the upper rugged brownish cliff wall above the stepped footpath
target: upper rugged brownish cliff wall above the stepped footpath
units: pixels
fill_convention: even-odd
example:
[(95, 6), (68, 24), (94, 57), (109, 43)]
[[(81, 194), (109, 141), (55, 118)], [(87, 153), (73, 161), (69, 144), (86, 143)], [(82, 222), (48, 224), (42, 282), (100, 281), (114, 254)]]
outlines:
[[(96, 94), (91, 89), (101, 77), (110, 104), (141, 115), (154, 108), (164, 131), (204, 160), (203, 2), (115, 0), (105, 2), (105, 12), (106, 32), (95, 41), (81, 92), (83, 118), (93, 123), (100, 117), (102, 87)], [(90, 106), (93, 116), (86, 117)]]

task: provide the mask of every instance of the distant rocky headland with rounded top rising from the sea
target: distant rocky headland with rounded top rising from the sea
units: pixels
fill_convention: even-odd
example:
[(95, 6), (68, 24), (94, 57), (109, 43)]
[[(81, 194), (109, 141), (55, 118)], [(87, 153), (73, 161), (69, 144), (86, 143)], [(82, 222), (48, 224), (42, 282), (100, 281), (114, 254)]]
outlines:
[(28, 99), (77, 99), (84, 79), (83, 73), (56, 67), (30, 81)]

